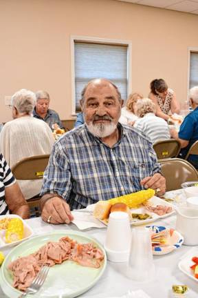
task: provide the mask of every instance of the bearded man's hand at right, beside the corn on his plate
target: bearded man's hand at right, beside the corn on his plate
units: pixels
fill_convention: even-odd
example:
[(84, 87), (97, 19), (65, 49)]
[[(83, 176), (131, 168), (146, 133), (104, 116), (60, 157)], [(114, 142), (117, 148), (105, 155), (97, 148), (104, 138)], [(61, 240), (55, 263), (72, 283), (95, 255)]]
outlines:
[(140, 183), (145, 188), (156, 190), (159, 197), (166, 192), (166, 179), (159, 173), (154, 174), (152, 177), (142, 179)]

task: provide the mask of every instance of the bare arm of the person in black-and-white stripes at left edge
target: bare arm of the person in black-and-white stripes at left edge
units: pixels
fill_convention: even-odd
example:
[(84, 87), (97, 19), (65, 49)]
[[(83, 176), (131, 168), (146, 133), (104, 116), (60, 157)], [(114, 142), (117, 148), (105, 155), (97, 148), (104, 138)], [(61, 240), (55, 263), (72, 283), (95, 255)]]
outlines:
[(30, 217), (30, 208), (17, 182), (5, 187), (5, 202), (12, 214), (19, 215), (23, 219)]

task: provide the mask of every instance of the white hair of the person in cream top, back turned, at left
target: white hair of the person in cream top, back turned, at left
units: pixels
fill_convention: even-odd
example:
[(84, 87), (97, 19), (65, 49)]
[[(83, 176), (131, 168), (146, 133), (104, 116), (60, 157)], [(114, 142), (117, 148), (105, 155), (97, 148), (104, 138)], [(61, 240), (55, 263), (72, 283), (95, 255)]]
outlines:
[(11, 105), (17, 108), (19, 113), (31, 115), (36, 105), (35, 93), (27, 89), (21, 89), (12, 95)]

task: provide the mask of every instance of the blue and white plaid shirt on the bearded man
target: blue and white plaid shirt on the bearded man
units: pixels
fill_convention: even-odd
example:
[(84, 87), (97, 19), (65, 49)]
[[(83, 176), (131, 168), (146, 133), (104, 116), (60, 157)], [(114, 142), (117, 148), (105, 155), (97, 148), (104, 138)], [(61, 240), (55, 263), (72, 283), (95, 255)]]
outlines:
[(148, 137), (121, 126), (113, 148), (94, 137), (86, 125), (70, 130), (54, 144), (41, 195), (57, 193), (71, 209), (141, 190), (140, 180), (160, 171)]

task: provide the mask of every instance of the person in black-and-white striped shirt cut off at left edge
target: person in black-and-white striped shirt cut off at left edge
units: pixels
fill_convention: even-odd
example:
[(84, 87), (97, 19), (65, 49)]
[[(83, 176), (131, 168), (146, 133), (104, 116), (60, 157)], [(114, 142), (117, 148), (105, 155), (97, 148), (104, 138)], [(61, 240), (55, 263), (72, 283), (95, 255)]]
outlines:
[(0, 215), (16, 214), (23, 219), (30, 217), (28, 203), (16, 182), (12, 172), (0, 153)]

